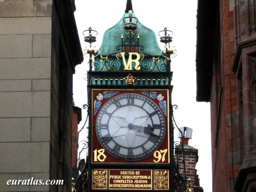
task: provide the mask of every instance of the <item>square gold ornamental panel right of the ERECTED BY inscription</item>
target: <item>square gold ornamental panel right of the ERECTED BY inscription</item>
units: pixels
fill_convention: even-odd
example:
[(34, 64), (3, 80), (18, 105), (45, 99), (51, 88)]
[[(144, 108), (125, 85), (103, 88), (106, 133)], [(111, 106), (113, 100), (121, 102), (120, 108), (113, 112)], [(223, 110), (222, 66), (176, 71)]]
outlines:
[(169, 171), (168, 170), (154, 170), (154, 190), (168, 190), (169, 189)]

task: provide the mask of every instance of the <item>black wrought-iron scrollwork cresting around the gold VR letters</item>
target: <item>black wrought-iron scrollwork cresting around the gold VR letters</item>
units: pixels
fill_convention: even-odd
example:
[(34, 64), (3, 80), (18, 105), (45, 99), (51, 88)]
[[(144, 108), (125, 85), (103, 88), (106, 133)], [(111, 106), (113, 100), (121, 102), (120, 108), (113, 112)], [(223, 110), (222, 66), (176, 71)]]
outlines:
[[(93, 31), (90, 29), (90, 31)], [(86, 36), (85, 37), (86, 42), (90, 42), (90, 45), (94, 40), (96, 39), (95, 36)], [(150, 54), (141, 53), (144, 50), (144, 46), (140, 45), (140, 35), (137, 34), (137, 30), (127, 30), (124, 29), (124, 34), (121, 34), (121, 44), (116, 46), (117, 52), (112, 53), (108, 56), (102, 56), (100, 55), (100, 52), (98, 50), (84, 50), (84, 54), (88, 54), (91, 52), (91, 54), (94, 55), (94, 60), (92, 61), (92, 56), (90, 56), (89, 65), (90, 70), (89, 71), (108, 71), (108, 72), (116, 72), (116, 71), (125, 71), (123, 69), (124, 63), (122, 54), (120, 52), (124, 52), (126, 55), (128, 53), (138, 53), (140, 57), (140, 71), (144, 72), (164, 72), (164, 71), (170, 71), (170, 54), (173, 54), (176, 56), (176, 50), (168, 51), (162, 50), (160, 54), (162, 56), (154, 57)], [(159, 54), (159, 53), (158, 53)], [(98, 58), (100, 57), (100, 58)], [(169, 62), (170, 61), (170, 62)], [(99, 64), (98, 62), (101, 62)], [(103, 62), (103, 63), (102, 63)], [(162, 62), (162, 64), (158, 64), (158, 62)]]

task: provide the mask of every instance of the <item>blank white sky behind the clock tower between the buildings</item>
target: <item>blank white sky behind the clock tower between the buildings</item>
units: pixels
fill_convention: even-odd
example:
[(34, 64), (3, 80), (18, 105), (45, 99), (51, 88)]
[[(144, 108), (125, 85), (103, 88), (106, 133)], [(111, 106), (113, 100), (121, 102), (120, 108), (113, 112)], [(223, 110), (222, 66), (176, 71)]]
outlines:
[[(76, 25), (82, 50), (89, 47), (84, 42), (82, 32), (92, 27), (98, 31), (97, 41), (92, 47), (99, 49), (104, 32), (114, 26), (123, 16), (126, 0), (75, 0)], [(212, 191), (212, 163), (210, 136), (210, 103), (196, 102), (196, 10), (197, 0), (132, 0), (134, 14), (146, 27), (152, 29), (159, 40), (158, 32), (167, 27), (173, 32), (171, 47), (178, 54), (172, 59), (172, 104), (177, 126), (193, 129), (192, 139), (188, 144), (198, 149), (197, 174), (204, 192)], [(159, 42), (161, 49), (164, 44)], [(88, 55), (86, 55), (88, 56)], [(75, 106), (82, 108), (87, 104), (88, 58), (76, 66), (73, 78)], [(82, 127), (86, 119), (86, 110), (82, 109)], [(174, 129), (174, 140), (179, 141), (178, 130)], [(83, 133), (83, 132), (81, 132)], [(83, 133), (80, 140), (86, 140)]]

